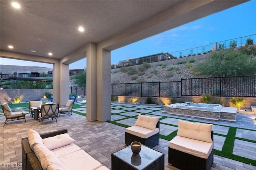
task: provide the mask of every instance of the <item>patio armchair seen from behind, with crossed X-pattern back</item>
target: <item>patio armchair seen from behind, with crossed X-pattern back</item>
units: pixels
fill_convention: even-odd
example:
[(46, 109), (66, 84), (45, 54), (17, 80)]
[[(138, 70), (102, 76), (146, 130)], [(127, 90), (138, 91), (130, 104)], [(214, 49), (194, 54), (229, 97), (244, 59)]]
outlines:
[(55, 119), (57, 123), (59, 104), (42, 104), (41, 113), (38, 115), (39, 122), (43, 124), (44, 119)]

